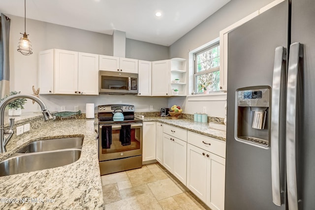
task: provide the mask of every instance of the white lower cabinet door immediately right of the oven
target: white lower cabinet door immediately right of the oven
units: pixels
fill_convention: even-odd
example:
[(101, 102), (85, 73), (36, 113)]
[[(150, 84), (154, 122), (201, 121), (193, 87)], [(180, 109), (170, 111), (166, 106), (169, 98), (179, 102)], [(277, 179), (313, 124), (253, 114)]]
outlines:
[(143, 152), (142, 161), (156, 159), (156, 122), (143, 122)]

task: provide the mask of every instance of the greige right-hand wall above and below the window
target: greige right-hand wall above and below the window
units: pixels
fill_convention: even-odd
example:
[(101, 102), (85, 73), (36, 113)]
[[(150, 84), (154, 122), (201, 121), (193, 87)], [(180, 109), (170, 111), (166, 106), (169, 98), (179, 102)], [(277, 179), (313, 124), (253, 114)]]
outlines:
[[(172, 44), (170, 46), (170, 58), (185, 58), (189, 60), (189, 50), (194, 50), (218, 38), (221, 30), (272, 1), (273, 0), (231, 0), (212, 16)], [(189, 67), (189, 63), (187, 63), (187, 67)], [(185, 109), (184, 112), (188, 114), (202, 112), (203, 107), (206, 107), (209, 116), (225, 118), (225, 102), (226, 101), (187, 101), (183, 98), (172, 98), (168, 101), (168, 106), (170, 107), (173, 104), (181, 105)]]

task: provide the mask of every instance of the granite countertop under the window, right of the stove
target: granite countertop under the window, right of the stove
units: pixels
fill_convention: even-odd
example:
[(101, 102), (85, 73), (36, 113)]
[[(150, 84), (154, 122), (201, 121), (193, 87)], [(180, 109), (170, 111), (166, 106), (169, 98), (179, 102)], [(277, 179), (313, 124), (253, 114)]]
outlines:
[(179, 128), (183, 128), (188, 131), (199, 133), (205, 136), (209, 136), (221, 141), (226, 141), (226, 132), (223, 130), (217, 130), (209, 127), (209, 123), (206, 122), (195, 122), (190, 119), (180, 118), (171, 119), (170, 117), (144, 117), (139, 118), (145, 121), (158, 121), (165, 124), (173, 125)]

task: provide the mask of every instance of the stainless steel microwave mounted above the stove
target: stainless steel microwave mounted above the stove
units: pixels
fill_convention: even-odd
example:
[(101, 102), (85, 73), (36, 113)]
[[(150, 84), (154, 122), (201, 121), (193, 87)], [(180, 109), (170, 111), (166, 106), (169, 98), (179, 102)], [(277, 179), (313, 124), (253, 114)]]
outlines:
[(137, 94), (138, 74), (99, 71), (100, 94)]

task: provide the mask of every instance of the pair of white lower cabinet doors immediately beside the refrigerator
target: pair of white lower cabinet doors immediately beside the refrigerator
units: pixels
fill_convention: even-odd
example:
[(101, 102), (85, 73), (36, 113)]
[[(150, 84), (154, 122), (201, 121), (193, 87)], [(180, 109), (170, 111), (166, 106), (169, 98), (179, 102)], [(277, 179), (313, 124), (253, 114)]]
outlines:
[(224, 209), (225, 159), (188, 144), (187, 187), (212, 210)]

